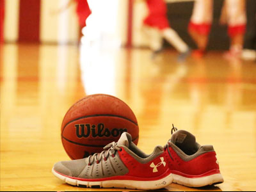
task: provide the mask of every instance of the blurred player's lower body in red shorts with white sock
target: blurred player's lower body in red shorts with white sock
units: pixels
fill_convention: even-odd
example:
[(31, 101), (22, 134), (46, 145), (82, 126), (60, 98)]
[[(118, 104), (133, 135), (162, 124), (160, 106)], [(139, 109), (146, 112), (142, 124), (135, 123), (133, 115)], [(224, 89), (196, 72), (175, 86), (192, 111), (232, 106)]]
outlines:
[(189, 55), (190, 49), (177, 32), (170, 28), (166, 16), (166, 3), (163, 0), (147, 0), (146, 4), (148, 6), (148, 16), (143, 23), (146, 26), (159, 29), (161, 36), (180, 52), (178, 60), (184, 60)]

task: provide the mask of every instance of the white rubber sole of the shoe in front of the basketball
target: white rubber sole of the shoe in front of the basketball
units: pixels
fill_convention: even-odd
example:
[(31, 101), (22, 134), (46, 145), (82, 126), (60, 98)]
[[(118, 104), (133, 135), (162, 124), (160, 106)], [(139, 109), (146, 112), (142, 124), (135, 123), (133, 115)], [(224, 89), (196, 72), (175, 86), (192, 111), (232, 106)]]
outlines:
[(163, 179), (159, 180), (103, 180), (103, 181), (84, 181), (71, 179), (65, 177), (60, 173), (55, 172), (52, 168), (52, 173), (58, 177), (58, 179), (67, 182), (72, 186), (79, 186), (83, 188), (128, 188), (128, 189), (141, 189), (141, 190), (154, 190), (165, 188), (173, 181), (172, 173)]

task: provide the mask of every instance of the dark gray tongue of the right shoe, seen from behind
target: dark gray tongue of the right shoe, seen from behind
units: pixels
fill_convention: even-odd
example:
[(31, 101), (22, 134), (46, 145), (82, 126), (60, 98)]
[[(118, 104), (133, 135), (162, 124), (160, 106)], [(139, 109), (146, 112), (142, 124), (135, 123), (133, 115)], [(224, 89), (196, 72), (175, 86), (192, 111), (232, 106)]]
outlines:
[(188, 131), (179, 130), (174, 132), (171, 141), (182, 150), (195, 150), (196, 148), (196, 138)]

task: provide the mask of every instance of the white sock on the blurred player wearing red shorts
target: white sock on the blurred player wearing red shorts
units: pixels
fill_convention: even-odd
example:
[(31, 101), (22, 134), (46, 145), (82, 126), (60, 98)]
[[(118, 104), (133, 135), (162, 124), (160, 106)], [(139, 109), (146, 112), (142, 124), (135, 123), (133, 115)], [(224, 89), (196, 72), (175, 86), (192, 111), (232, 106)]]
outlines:
[(180, 38), (176, 31), (171, 28), (163, 29), (162, 35), (179, 52), (188, 51), (188, 45)]

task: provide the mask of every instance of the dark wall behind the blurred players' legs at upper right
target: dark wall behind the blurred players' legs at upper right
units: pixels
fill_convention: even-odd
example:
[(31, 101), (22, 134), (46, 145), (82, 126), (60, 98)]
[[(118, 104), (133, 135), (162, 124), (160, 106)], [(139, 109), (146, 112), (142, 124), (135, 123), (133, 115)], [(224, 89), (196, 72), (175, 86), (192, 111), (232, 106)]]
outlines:
[[(191, 2), (182, 2), (182, 3), (168, 3), (167, 9), (168, 9), (168, 19), (170, 22), (170, 26), (175, 29), (179, 35), (182, 37), (182, 39), (191, 47), (195, 48), (196, 45), (191, 39), (191, 37), (188, 34), (188, 24), (189, 19), (192, 14), (193, 10), (193, 1)], [(212, 28), (211, 33), (209, 35), (209, 44), (207, 49), (209, 50), (224, 50), (228, 49), (229, 47), (229, 38), (227, 35), (227, 26), (221, 26), (219, 24), (220, 14), (221, 14), (221, 7), (223, 4), (223, 0), (214, 0), (214, 13), (213, 13), (213, 20), (212, 20)], [(247, 0), (246, 7), (252, 7), (256, 8), (256, 0)], [(248, 17), (250, 17), (250, 20), (252, 20), (252, 14), (247, 14)], [(249, 20), (249, 19), (248, 19)], [(252, 28), (254, 29), (255, 26), (253, 26), (252, 23), (248, 23), (247, 28), (252, 31)], [(250, 32), (250, 35), (252, 36), (252, 33), (255, 33), (255, 31)], [(246, 32), (245, 38), (247, 38), (248, 34)], [(166, 42), (164, 43), (165, 46), (170, 46)]]

